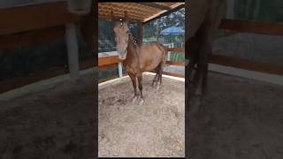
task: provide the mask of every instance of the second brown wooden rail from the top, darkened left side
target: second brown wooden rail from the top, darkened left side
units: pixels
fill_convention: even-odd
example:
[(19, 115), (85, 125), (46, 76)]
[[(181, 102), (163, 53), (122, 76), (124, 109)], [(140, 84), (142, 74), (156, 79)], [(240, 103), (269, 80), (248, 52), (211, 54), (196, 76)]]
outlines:
[(50, 42), (63, 37), (64, 34), (64, 27), (50, 27), (22, 34), (3, 35), (0, 36), (0, 49), (12, 49), (16, 46), (27, 46), (31, 43)]

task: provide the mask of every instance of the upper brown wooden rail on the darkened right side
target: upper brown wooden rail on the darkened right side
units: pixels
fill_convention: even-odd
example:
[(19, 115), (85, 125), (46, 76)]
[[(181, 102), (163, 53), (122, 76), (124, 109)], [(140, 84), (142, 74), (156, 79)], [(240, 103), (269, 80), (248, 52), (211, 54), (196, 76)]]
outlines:
[(275, 22), (222, 19), (219, 28), (255, 34), (283, 34), (283, 23)]

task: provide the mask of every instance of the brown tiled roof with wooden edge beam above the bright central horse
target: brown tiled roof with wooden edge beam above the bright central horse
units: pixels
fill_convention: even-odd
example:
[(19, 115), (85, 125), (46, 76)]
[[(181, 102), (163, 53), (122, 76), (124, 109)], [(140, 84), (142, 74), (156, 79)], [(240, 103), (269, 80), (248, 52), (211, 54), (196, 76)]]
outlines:
[(98, 3), (98, 17), (111, 19), (113, 11), (114, 18), (122, 18), (126, 11), (128, 19), (146, 23), (184, 6), (185, 3)]

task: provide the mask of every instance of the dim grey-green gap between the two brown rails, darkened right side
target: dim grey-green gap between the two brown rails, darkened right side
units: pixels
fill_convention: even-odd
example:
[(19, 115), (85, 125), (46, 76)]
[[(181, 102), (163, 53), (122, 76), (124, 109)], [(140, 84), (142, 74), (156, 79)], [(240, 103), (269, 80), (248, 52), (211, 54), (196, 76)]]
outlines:
[(239, 57), (254, 62), (282, 64), (282, 36), (235, 33), (225, 30), (218, 31), (218, 34), (223, 34), (213, 43), (214, 49), (223, 49), (215, 52), (218, 55)]

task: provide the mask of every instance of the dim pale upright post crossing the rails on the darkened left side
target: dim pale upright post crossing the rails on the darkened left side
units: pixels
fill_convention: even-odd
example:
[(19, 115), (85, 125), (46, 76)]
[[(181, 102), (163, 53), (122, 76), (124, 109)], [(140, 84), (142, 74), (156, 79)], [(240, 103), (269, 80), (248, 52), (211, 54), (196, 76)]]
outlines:
[(79, 78), (79, 46), (76, 34), (75, 24), (65, 25), (65, 42), (68, 51), (68, 64), (71, 79)]

